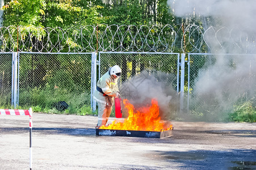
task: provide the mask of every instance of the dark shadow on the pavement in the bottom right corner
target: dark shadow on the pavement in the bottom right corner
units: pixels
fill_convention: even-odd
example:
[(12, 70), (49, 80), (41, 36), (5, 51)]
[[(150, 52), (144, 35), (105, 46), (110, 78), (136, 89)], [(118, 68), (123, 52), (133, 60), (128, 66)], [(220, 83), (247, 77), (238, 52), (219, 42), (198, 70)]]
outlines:
[(152, 154), (179, 163), (181, 169), (256, 169), (256, 150), (154, 151)]

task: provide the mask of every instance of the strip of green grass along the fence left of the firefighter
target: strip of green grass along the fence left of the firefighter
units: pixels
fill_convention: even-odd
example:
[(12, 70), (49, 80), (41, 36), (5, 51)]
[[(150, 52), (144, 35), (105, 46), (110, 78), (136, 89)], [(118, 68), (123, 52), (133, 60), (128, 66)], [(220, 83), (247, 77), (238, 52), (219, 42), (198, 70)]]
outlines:
[[(54, 114), (95, 114), (90, 107), (90, 91), (69, 91), (66, 89), (33, 88), (20, 90), (19, 109), (32, 108), (33, 112), (54, 113)], [(69, 107), (64, 111), (58, 111), (54, 104), (58, 101), (65, 101)]]

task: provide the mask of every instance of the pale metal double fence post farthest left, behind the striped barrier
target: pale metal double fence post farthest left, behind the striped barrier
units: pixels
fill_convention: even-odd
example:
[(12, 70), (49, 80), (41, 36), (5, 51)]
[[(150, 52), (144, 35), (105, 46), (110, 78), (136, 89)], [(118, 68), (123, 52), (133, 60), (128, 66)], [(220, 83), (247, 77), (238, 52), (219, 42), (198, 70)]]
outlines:
[(11, 66), (11, 105), (17, 107), (17, 87), (18, 87), (18, 52), (12, 53), (12, 66)]

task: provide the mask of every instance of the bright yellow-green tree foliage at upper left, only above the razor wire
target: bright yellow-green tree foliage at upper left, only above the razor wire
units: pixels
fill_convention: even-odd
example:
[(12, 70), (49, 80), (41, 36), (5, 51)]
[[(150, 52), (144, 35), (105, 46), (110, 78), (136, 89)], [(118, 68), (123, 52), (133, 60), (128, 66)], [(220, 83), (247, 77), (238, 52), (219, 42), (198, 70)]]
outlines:
[[(98, 10), (101, 3), (71, 0), (20, 0), (6, 1), (3, 25), (33, 25), (35, 27), (70, 27), (97, 24), (102, 21)], [(104, 19), (103, 19), (104, 20)]]

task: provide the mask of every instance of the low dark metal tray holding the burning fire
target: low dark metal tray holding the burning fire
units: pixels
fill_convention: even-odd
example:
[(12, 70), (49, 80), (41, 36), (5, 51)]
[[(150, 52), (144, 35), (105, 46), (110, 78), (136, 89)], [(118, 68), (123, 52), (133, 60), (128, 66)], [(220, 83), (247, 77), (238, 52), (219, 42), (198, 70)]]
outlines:
[(122, 136), (122, 137), (143, 137), (143, 138), (166, 138), (173, 135), (173, 128), (161, 131), (140, 131), (140, 130), (112, 130), (99, 129), (96, 126), (96, 135)]

